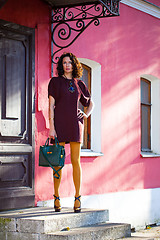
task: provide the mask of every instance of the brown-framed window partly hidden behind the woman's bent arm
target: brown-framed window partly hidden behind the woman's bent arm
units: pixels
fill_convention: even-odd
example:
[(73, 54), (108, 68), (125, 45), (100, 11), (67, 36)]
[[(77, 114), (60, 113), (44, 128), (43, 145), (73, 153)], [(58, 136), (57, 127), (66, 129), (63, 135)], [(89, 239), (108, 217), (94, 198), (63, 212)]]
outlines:
[[(83, 67), (83, 76), (81, 80), (86, 84), (89, 92), (91, 93), (91, 68), (82, 64)], [(82, 104), (79, 104), (79, 108), (86, 112), (87, 108), (83, 107)], [(84, 119), (84, 136), (82, 149), (91, 148), (91, 117)]]

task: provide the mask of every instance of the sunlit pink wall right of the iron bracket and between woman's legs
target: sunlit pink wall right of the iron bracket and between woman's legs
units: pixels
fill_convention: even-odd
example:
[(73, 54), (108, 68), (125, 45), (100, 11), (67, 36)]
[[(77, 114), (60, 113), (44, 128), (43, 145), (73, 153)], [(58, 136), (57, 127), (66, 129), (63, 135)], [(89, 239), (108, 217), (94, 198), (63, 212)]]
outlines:
[[(82, 195), (160, 187), (160, 158), (140, 156), (140, 75), (160, 76), (159, 19), (121, 4), (68, 49), (102, 66), (103, 157), (82, 158)], [(74, 194), (71, 165), (61, 195)]]

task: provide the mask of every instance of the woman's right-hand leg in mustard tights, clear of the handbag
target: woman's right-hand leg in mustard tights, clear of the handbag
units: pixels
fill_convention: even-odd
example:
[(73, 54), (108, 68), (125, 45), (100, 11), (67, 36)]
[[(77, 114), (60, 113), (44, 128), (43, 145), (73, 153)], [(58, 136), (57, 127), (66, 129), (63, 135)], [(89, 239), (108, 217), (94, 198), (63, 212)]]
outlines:
[[(75, 186), (75, 197), (80, 196), (80, 188), (81, 188), (81, 164), (80, 164), (80, 151), (81, 151), (81, 143), (78, 142), (70, 142), (71, 148), (71, 162), (73, 167), (73, 182)], [(79, 207), (80, 202), (78, 200), (75, 201), (74, 207)]]

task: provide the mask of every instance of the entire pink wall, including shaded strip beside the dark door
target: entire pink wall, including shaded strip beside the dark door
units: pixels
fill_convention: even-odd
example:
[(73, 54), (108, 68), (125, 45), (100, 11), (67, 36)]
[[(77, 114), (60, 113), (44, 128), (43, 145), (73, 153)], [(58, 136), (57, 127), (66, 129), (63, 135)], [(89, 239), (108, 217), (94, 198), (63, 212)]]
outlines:
[[(48, 136), (50, 15), (49, 8), (40, 0), (16, 2), (8, 0), (0, 10), (0, 18), (36, 30), (37, 202), (53, 198), (52, 170), (38, 167), (39, 146)], [(160, 187), (160, 158), (140, 157), (140, 75), (160, 76), (159, 19), (124, 4), (120, 4), (120, 14), (120, 17), (101, 19), (98, 27), (92, 24), (67, 49), (102, 67), (104, 156), (82, 158), (82, 195)], [(68, 146), (60, 191), (61, 197), (74, 195)]]

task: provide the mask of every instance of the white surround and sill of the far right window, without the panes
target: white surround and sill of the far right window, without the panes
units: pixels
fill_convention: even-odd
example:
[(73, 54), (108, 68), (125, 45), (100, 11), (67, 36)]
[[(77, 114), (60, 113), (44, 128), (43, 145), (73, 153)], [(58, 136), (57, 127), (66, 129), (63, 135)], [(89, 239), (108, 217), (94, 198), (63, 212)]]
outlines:
[(151, 82), (151, 153), (141, 152), (142, 157), (160, 156), (160, 79), (150, 74), (140, 76)]

